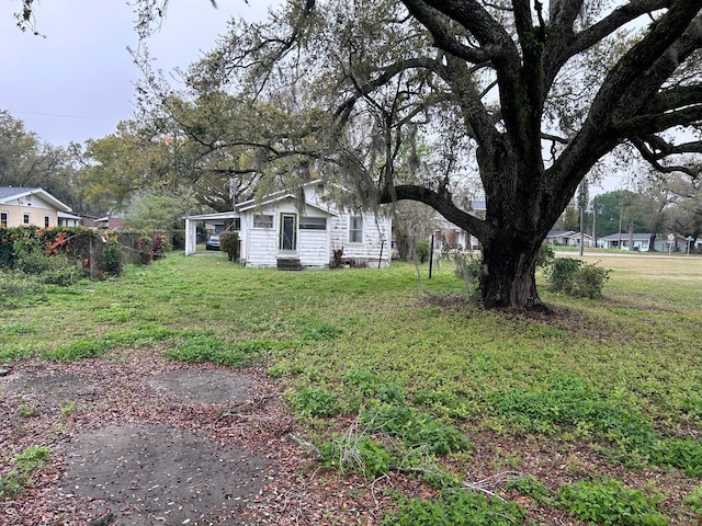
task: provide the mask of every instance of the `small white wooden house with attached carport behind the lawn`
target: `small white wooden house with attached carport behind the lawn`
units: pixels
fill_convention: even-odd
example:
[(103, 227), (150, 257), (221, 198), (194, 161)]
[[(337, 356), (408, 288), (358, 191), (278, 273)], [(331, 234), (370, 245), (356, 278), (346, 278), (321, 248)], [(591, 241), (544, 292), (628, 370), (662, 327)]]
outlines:
[(185, 254), (195, 252), (199, 221), (230, 220), (238, 227), (240, 262), (247, 266), (325, 268), (336, 258), (355, 266), (390, 263), (387, 214), (347, 210), (325, 199), (325, 183), (303, 185), (304, 203), (291, 192), (239, 203), (233, 211), (185, 218)]

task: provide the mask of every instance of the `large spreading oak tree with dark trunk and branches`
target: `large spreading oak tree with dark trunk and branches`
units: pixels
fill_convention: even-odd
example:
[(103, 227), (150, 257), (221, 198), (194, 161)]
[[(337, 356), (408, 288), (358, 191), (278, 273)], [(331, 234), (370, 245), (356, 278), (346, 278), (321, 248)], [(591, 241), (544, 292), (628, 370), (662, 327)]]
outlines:
[[(307, 130), (327, 138), (318, 159), (371, 199), (422, 202), (475, 235), (487, 308), (540, 308), (539, 248), (599, 161), (624, 147), (697, 176), (679, 158), (702, 152), (701, 0), (547, 8), (291, 0), (268, 25), (234, 25), (191, 78), (284, 93), (291, 114), (325, 107), (329, 122)], [(418, 136), (433, 141), (433, 158), (398, 170)], [(453, 198), (466, 160), (484, 219)]]

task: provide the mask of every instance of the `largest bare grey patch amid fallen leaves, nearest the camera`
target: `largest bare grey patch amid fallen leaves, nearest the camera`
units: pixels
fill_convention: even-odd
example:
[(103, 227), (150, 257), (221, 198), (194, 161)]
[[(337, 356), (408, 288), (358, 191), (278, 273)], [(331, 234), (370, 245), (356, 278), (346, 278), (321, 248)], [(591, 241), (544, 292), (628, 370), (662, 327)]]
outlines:
[(120, 524), (248, 524), (247, 501), (262, 490), (267, 461), (202, 434), (165, 425), (110, 425), (64, 447), (63, 492), (100, 500)]

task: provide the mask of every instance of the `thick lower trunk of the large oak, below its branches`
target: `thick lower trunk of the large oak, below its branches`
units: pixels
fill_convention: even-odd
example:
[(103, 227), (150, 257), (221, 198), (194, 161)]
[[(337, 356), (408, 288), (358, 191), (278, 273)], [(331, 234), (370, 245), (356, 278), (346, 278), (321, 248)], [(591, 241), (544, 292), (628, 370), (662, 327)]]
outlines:
[(548, 310), (536, 291), (535, 263), (541, 242), (490, 237), (483, 243), (480, 286), (487, 309)]

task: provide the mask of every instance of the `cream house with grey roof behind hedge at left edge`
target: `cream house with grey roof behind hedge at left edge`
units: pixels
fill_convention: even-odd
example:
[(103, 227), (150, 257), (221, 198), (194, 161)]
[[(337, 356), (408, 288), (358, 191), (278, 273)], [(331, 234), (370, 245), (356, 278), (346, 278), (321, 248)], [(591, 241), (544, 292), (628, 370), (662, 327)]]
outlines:
[(0, 227), (80, 225), (80, 217), (71, 213), (70, 206), (43, 188), (0, 186)]

